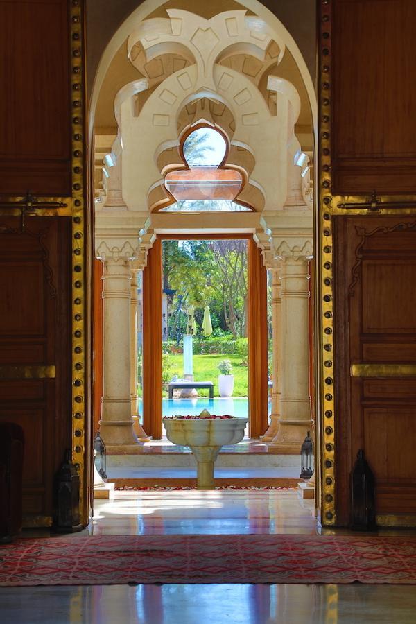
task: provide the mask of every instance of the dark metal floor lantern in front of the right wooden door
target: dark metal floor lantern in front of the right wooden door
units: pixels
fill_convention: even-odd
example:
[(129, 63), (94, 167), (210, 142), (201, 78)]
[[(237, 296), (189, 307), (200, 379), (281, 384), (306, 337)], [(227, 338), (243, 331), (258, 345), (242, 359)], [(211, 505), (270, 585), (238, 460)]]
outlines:
[(363, 449), (351, 473), (351, 528), (353, 531), (376, 530), (376, 485), (374, 474), (364, 457)]

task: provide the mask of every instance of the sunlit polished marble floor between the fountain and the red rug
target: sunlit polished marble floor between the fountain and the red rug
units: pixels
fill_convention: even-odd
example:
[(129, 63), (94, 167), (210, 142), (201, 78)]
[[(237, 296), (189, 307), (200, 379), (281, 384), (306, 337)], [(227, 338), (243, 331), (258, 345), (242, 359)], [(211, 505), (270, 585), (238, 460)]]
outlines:
[(295, 490), (118, 492), (96, 501), (90, 535), (302, 533), (315, 535), (313, 501)]

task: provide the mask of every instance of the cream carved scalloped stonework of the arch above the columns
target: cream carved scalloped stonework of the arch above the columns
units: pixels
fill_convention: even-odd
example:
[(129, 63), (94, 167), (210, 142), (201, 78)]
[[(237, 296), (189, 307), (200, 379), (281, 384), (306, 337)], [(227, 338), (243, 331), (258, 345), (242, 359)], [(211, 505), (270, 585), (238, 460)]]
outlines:
[[(226, 166), (244, 180), (239, 201), (259, 214), (259, 228), (288, 218), (292, 229), (301, 220), (302, 231), (311, 231), (311, 111), (285, 42), (245, 9), (210, 19), (176, 8), (162, 15), (132, 25), (98, 98), (98, 222), (129, 214), (131, 223), (140, 215), (151, 227), (154, 211), (168, 200), (166, 174), (184, 167), (182, 137), (206, 125), (223, 132)], [(117, 63), (124, 68), (118, 74)], [(280, 249), (278, 229), (269, 243)]]

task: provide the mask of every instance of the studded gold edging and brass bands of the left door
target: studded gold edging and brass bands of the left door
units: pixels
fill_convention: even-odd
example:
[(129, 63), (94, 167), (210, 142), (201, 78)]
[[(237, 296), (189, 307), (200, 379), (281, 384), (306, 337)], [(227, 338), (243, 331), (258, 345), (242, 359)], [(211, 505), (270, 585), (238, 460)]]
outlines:
[[(89, 483), (90, 462), (88, 459), (89, 432), (87, 412), (87, 388), (86, 383), (86, 349), (89, 330), (87, 315), (90, 312), (87, 301), (87, 262), (91, 255), (89, 241), (86, 236), (85, 223), (87, 219), (87, 207), (85, 202), (86, 193), (86, 168), (85, 168), (85, 51), (84, 51), (84, 0), (69, 0), (69, 52), (71, 74), (71, 196), (70, 197), (40, 197), (35, 198), (35, 203), (27, 211), (28, 218), (37, 216), (71, 216), (72, 220), (72, 245), (71, 245), (71, 314), (72, 314), (72, 338), (71, 338), (71, 456), (78, 473), (80, 474), (80, 521), (84, 525), (88, 523), (89, 496), (87, 485)], [(3, 200), (0, 214), (8, 216), (22, 216), (24, 207), (28, 209), (27, 198), (22, 196), (9, 196)], [(60, 207), (51, 207), (58, 203)], [(39, 207), (37, 207), (39, 205)], [(33, 209), (32, 209), (33, 208)], [(22, 216), (23, 219), (23, 216)], [(23, 223), (23, 221), (22, 221)], [(88, 349), (89, 352), (89, 349)], [(33, 368), (33, 367), (32, 367)], [(54, 368), (54, 367), (53, 367)], [(50, 370), (49, 370), (50, 369)], [(42, 377), (54, 376), (51, 372), (42, 372)], [(89, 370), (89, 366), (88, 366)], [(39, 372), (25, 372), (28, 376), (40, 376)], [(53, 371), (54, 373), (54, 371)], [(64, 456), (62, 456), (62, 461)], [(49, 516), (27, 517), (27, 526), (51, 526), (52, 519)]]

